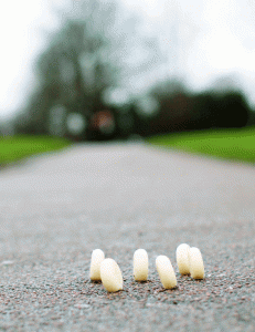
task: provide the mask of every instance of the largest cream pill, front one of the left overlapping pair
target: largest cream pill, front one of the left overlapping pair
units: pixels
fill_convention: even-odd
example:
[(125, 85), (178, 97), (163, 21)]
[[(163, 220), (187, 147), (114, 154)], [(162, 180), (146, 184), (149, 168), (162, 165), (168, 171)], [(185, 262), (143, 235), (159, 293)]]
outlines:
[(108, 292), (117, 292), (123, 289), (123, 274), (117, 262), (106, 258), (100, 264), (100, 279)]

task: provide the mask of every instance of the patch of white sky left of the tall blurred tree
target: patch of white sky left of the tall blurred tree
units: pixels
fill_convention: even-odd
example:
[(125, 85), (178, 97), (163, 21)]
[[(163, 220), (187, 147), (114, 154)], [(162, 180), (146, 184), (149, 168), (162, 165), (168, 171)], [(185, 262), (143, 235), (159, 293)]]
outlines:
[(0, 118), (19, 111), (32, 82), (32, 61), (43, 48), (42, 25), (54, 28), (47, 0), (9, 0), (0, 9)]

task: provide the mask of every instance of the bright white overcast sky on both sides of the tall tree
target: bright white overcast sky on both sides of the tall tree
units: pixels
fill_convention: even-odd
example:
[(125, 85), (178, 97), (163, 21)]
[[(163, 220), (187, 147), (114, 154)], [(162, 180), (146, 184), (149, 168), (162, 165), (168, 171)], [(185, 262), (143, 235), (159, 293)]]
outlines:
[[(55, 27), (49, 2), (1, 3), (0, 117), (19, 110), (33, 83), (31, 64), (44, 44), (39, 27), (49, 30)], [(125, 6), (144, 15), (145, 33), (160, 35), (162, 52), (170, 54), (163, 71), (181, 74), (193, 90), (204, 90), (217, 77), (233, 76), (255, 104), (253, 0), (129, 0)], [(173, 37), (176, 48), (172, 48)], [(146, 77), (149, 83), (153, 80), (155, 73)], [(131, 85), (142, 86), (142, 82), (145, 77), (136, 77)]]

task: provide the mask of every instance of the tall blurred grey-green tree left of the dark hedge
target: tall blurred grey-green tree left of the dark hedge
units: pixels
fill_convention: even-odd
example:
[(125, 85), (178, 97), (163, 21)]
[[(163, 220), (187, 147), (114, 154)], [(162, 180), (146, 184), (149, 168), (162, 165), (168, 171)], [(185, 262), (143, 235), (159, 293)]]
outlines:
[[(104, 92), (121, 86), (132, 74), (131, 58), (136, 68), (159, 61), (157, 40), (140, 34), (138, 17), (121, 11), (114, 0), (67, 2), (72, 10), (53, 8), (60, 28), (50, 33), (35, 64), (38, 86), (26, 110), (26, 126), (35, 133), (52, 128), (63, 135), (66, 128), (54, 129), (52, 118), (65, 126), (70, 113), (79, 113), (89, 123), (94, 113), (107, 107)], [(136, 59), (135, 50), (145, 55)], [(56, 111), (61, 107), (65, 111)]]

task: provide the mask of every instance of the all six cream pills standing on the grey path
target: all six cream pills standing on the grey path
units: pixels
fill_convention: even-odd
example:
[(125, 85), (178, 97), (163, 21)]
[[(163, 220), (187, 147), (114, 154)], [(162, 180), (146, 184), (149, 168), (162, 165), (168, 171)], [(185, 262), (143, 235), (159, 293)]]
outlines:
[[(193, 279), (204, 278), (204, 266), (200, 250), (195, 247), (182, 243), (176, 251), (177, 263), (181, 274), (191, 274)], [(160, 281), (166, 289), (177, 286), (177, 277), (171, 261), (167, 256), (158, 256), (156, 268)], [(138, 249), (134, 253), (134, 278), (136, 281), (146, 281), (149, 273), (148, 253), (145, 249)], [(100, 249), (93, 250), (89, 278), (102, 281), (108, 292), (123, 289), (123, 273), (117, 262), (111, 258), (105, 258)]]

